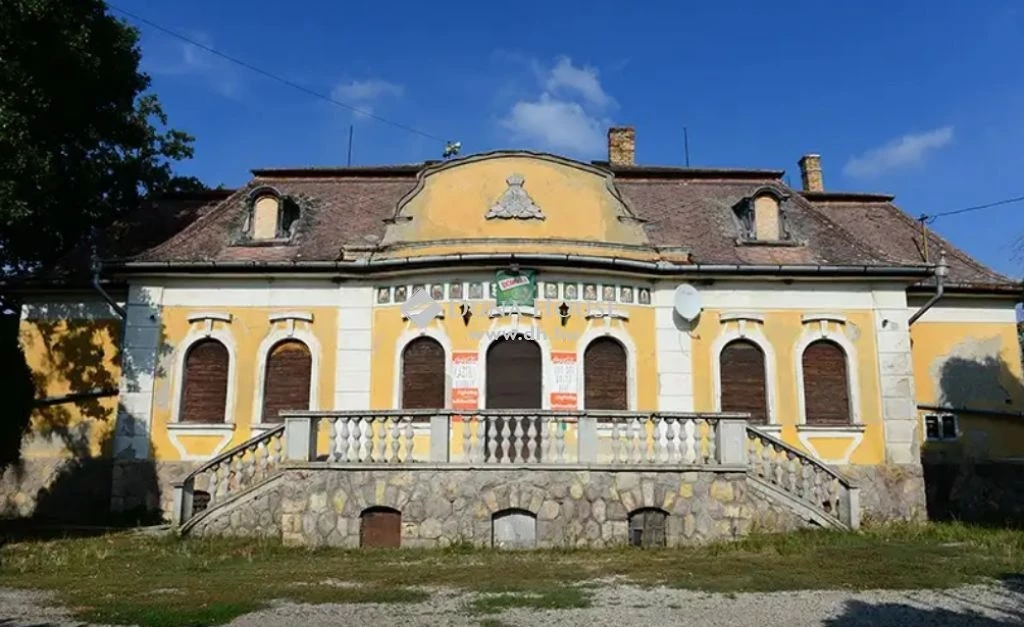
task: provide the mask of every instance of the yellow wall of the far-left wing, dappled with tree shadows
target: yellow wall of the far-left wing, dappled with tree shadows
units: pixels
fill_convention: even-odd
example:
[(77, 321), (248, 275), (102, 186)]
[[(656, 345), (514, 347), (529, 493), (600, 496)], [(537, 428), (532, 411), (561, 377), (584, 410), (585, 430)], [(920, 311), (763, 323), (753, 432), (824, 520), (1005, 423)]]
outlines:
[[(23, 320), (19, 341), (37, 399), (118, 387), (119, 320)], [(49, 458), (108, 455), (117, 396), (37, 408), (23, 455)]]

